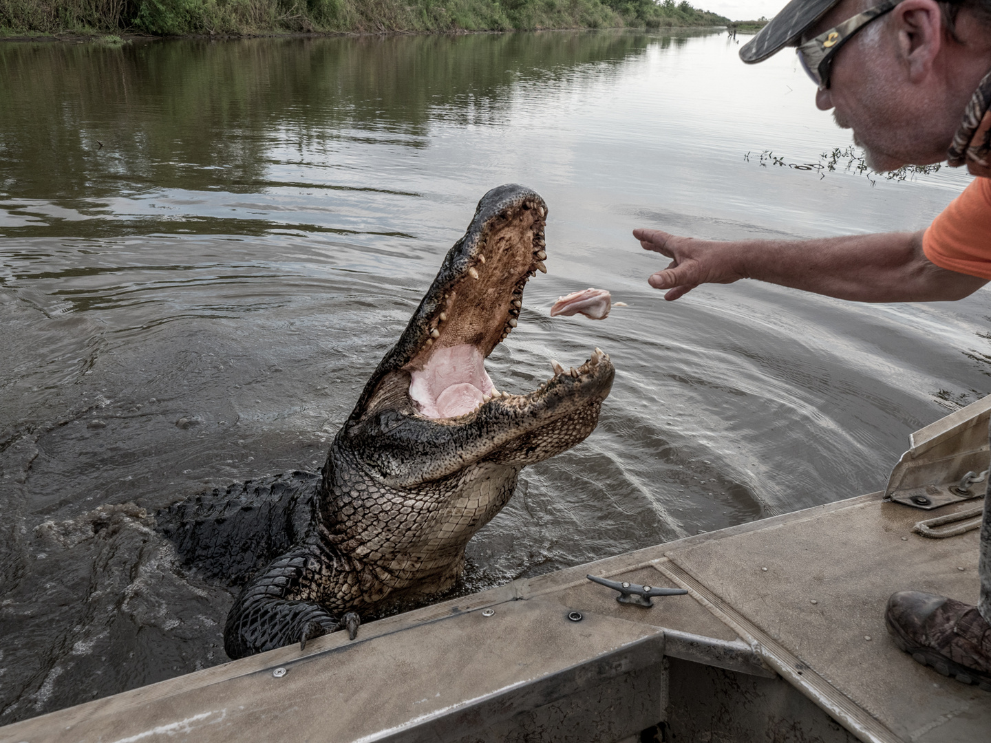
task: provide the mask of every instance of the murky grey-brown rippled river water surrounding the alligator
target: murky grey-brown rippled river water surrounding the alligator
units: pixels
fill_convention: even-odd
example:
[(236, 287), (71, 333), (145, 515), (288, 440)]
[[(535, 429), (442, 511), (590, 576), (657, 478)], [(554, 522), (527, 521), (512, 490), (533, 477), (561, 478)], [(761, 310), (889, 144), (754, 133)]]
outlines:
[[(499, 183), (551, 211), (550, 273), (496, 385), (527, 391), (595, 346), (617, 372), (596, 433), (526, 470), (470, 545), (476, 584), (879, 489), (911, 431), (988, 391), (985, 291), (870, 306), (748, 282), (667, 304), (646, 285), (661, 262), (636, 226), (919, 229), (966, 182), (762, 166), (848, 135), (788, 54), (747, 67), (737, 49), (0, 47), (0, 723), (225, 660), (230, 591), (187, 575), (139, 509), (318, 468)], [(629, 306), (548, 317), (591, 285)]]

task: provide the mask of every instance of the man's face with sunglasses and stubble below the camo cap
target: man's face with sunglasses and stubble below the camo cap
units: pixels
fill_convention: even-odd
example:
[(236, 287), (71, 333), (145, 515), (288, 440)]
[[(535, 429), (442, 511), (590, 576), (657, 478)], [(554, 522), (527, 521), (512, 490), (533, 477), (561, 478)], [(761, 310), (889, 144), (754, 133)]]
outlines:
[[(803, 41), (873, 4), (843, 0)], [(836, 125), (853, 130), (853, 142), (879, 171), (938, 162), (945, 157), (955, 129), (950, 124), (948, 134), (944, 131), (945, 102), (909, 82), (891, 26), (894, 14), (872, 21), (840, 48), (832, 59), (829, 88), (816, 94), (816, 105), (823, 111), (833, 109)]]

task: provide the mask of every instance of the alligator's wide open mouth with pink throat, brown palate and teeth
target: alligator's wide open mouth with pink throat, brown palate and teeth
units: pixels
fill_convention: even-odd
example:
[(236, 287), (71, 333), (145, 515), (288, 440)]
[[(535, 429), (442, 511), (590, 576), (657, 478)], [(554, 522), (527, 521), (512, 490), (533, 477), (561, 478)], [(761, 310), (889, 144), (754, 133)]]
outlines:
[[(578, 369), (566, 371), (552, 361), (554, 374), (529, 394), (495, 388), (485, 360), (516, 327), (526, 282), (538, 270), (547, 272), (547, 206), (540, 196), (518, 186), (494, 201), (488, 215), (486, 200), (480, 204), (468, 234), (448, 256), (407, 328), (407, 333), (414, 330), (415, 323), (421, 339), (411, 344), (403, 366), (409, 373), (408, 394), (426, 418), (456, 418), (496, 401), (503, 408), (527, 408), (558, 387), (575, 394), (576, 386), (611, 382), (608, 357), (596, 349)], [(606, 364), (598, 369), (604, 359)]]

